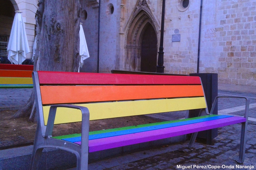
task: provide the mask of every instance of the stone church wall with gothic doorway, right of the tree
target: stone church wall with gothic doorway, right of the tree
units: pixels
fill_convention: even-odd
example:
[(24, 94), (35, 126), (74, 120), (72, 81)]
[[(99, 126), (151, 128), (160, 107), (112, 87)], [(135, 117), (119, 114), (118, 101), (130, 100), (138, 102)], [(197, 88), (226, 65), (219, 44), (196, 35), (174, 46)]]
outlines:
[[(166, 73), (197, 72), (200, 5), (196, 0), (166, 0)], [(82, 69), (86, 72), (97, 71), (98, 7), (97, 0), (82, 3), (87, 12), (82, 23), (90, 52)], [(218, 73), (219, 82), (256, 85), (255, 7), (255, 0), (203, 1), (200, 73)], [(143, 49), (149, 49), (143, 47), (148, 45), (143, 39), (145, 34), (152, 35), (147, 32), (149, 27), (156, 35), (153, 43), (159, 48), (161, 8), (161, 0), (101, 0), (99, 72), (142, 71), (143, 63), (148, 63), (143, 59)], [(151, 57), (156, 66), (157, 54)]]

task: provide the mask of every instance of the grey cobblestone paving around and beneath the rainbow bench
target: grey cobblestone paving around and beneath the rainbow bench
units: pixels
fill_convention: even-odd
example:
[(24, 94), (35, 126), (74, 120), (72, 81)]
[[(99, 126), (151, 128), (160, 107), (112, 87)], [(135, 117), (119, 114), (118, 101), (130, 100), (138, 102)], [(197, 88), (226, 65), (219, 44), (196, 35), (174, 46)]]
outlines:
[[(219, 83), (218, 89), (219, 95), (239, 95), (250, 99), (249, 120), (252, 121), (248, 123), (247, 150), (244, 164), (236, 163), (241, 125), (231, 125), (219, 128), (218, 137), (213, 139), (213, 145), (198, 142), (194, 148), (189, 149), (187, 147), (188, 141), (186, 141), (167, 147), (93, 162), (89, 164), (89, 169), (256, 169), (256, 87)], [(31, 91), (32, 89), (0, 89), (0, 109), (26, 103)], [(244, 105), (245, 103), (241, 99), (220, 99), (218, 110), (219, 113), (223, 114), (242, 115)], [(161, 116), (179, 119), (184, 115), (185, 112), (176, 112), (174, 114), (162, 114)]]

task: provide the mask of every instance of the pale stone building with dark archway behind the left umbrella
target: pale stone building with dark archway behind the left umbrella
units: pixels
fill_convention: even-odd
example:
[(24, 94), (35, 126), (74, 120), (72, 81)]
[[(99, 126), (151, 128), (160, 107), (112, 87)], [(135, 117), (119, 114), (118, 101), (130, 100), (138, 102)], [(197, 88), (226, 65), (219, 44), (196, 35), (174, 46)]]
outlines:
[[(30, 53), (26, 58), (32, 58), (33, 43), (35, 39), (36, 11), (38, 0), (1, 0), (0, 1), (0, 43), (1, 55), (4, 55), (4, 49), (8, 37), (11, 33), (12, 23), (15, 11), (21, 11), (23, 22), (25, 23), (27, 40), (30, 47)], [(7, 45), (6, 45), (7, 48)]]

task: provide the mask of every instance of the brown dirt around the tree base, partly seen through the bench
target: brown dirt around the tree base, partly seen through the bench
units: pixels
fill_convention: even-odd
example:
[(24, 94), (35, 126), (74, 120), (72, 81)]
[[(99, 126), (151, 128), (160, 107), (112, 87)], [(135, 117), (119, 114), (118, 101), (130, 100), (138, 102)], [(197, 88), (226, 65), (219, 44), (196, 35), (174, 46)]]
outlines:
[[(37, 124), (28, 122), (28, 117), (10, 119), (17, 110), (0, 111), (0, 149), (19, 146), (34, 141)], [(90, 121), (90, 131), (142, 125), (159, 122), (142, 116), (129, 116)], [(53, 136), (81, 133), (81, 122), (55, 125)]]

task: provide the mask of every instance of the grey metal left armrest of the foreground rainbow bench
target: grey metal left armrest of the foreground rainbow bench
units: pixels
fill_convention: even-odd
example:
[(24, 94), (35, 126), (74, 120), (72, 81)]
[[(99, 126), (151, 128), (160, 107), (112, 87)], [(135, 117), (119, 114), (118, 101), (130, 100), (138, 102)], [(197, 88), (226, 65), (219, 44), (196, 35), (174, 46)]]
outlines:
[[(88, 131), (88, 135), (89, 135), (89, 118), (90, 118), (89, 110), (86, 107), (83, 107), (83, 106), (76, 106), (76, 105), (71, 105), (71, 104), (59, 104), (59, 105), (53, 105), (53, 106), (50, 107), (44, 137), (52, 137), (52, 130), (53, 130), (53, 126), (54, 126), (56, 110), (57, 110), (58, 107), (65, 107), (65, 108), (81, 110), (81, 112), (82, 112), (82, 122), (84, 122), (84, 123), (82, 123), (82, 136), (83, 136), (83, 133), (87, 132), (87, 131)], [(86, 134), (84, 134), (84, 135), (86, 136)]]

